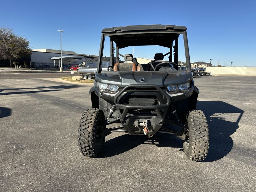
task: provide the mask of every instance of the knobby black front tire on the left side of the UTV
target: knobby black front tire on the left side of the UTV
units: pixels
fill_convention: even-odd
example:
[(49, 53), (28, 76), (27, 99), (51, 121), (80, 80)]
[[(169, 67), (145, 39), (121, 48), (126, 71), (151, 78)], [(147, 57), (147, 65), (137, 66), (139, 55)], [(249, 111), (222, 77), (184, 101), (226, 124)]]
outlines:
[(84, 156), (99, 156), (105, 142), (102, 132), (106, 125), (101, 125), (104, 120), (104, 113), (98, 108), (84, 111), (78, 127), (78, 146)]

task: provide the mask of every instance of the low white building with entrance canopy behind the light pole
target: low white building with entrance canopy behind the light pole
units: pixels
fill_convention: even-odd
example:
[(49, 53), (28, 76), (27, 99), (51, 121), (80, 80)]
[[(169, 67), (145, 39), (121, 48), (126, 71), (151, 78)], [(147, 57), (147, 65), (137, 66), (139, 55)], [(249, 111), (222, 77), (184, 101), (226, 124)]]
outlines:
[[(63, 66), (69, 67), (72, 64), (81, 64), (83, 61), (95, 58), (95, 55), (86, 55), (75, 53), (73, 51), (62, 51), (62, 64)], [(47, 63), (51, 66), (60, 67), (60, 50), (54, 49), (33, 49), (30, 55), (30, 61), (33, 64), (43, 64)]]

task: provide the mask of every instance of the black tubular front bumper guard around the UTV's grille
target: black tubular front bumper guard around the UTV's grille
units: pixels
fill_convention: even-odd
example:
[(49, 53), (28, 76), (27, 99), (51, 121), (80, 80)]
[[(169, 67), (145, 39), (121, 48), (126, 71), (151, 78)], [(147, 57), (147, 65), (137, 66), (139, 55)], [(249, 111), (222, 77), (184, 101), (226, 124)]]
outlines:
[[(146, 104), (147, 100), (149, 100), (146, 98), (142, 100), (138, 100), (139, 102), (140, 101), (142, 102), (144, 100), (144, 102), (142, 104), (138, 103), (137, 105), (136, 105), (136, 100), (135, 100), (135, 103), (132, 103), (132, 104), (131, 103), (124, 104), (121, 102), (122, 97), (127, 93), (127, 91), (131, 89), (136, 89), (136, 93), (139, 92), (140, 93), (139, 95), (143, 97), (143, 90), (140, 90), (140, 88), (145, 88), (145, 89), (154, 88), (156, 92), (160, 93), (159, 94), (160, 102), (155, 105)], [(150, 102), (150, 100), (148, 102)], [(149, 121), (150, 122), (150, 124), (148, 125), (149, 132), (151, 134), (155, 134), (164, 124), (164, 119), (168, 111), (168, 108), (170, 106), (170, 103), (171, 103), (170, 96), (166, 92), (164, 92), (160, 87), (154, 84), (128, 85), (124, 87), (118, 94), (116, 94), (114, 98), (114, 104), (119, 114), (121, 124), (130, 134), (136, 134), (141, 132), (141, 128), (136, 126), (136, 122), (138, 122), (138, 120)], [(136, 114), (129, 113), (129, 110), (138, 110), (138, 109), (140, 109), (142, 112), (136, 113)], [(153, 111), (153, 113), (146, 114), (146, 113), (143, 113), (144, 110)]]

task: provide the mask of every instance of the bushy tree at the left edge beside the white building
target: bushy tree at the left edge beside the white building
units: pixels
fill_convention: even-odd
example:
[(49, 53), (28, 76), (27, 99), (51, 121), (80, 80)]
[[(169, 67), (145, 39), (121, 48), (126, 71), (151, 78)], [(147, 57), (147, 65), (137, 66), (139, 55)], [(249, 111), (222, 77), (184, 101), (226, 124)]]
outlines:
[(29, 47), (29, 41), (22, 37), (15, 35), (10, 28), (0, 28), (0, 59), (8, 59), (10, 67), (12, 62), (23, 56), (28, 56), (32, 52)]

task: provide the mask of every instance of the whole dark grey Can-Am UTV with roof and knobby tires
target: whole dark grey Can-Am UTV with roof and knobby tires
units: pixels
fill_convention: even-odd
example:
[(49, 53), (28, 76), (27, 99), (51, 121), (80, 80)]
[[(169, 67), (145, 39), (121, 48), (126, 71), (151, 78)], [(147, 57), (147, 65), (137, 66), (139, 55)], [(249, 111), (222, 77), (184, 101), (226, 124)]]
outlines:
[[(199, 90), (194, 85), (186, 30), (184, 26), (174, 25), (102, 30), (98, 68), (90, 90), (92, 108), (84, 112), (78, 128), (78, 145), (84, 156), (99, 156), (105, 137), (112, 132), (145, 134), (148, 138), (161, 132), (183, 140), (184, 152), (189, 159), (201, 161), (206, 158), (208, 125), (204, 113), (195, 110)], [(101, 61), (103, 49), (109, 50), (109, 45), (104, 46), (107, 40), (111, 65), (104, 69)], [(179, 41), (183, 50), (178, 48)], [(144, 54), (150, 53), (149, 47), (156, 48), (154, 60), (145, 63), (145, 58), (144, 62), (141, 57), (133, 58), (128, 51), (126, 54), (122, 52), (125, 55), (120, 53), (130, 51), (134, 46)], [(158, 53), (163, 49), (167, 49), (167, 53)], [(178, 50), (184, 54), (186, 67), (178, 64)], [(104, 55), (106, 53), (109, 52), (105, 51)], [(136, 55), (140, 56), (139, 53)], [(169, 57), (164, 61), (167, 55)], [(119, 56), (124, 57), (124, 61)], [(114, 123), (120, 125), (106, 128)]]

